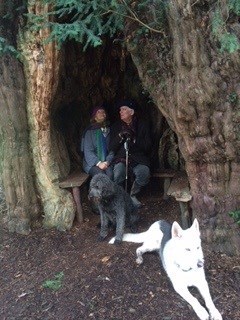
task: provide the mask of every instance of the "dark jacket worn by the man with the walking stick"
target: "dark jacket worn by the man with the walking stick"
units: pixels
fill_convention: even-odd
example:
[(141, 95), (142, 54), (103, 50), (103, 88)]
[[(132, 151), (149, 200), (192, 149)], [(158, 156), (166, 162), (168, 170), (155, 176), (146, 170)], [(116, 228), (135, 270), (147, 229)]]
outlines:
[[(124, 140), (119, 136), (119, 133), (123, 131), (123, 126), (123, 121), (119, 120), (110, 130), (109, 150), (114, 153), (113, 164), (124, 162), (126, 159)], [(133, 165), (144, 164), (150, 167), (149, 154), (151, 145), (148, 124), (141, 119), (135, 119), (135, 136), (129, 142), (129, 163)]]

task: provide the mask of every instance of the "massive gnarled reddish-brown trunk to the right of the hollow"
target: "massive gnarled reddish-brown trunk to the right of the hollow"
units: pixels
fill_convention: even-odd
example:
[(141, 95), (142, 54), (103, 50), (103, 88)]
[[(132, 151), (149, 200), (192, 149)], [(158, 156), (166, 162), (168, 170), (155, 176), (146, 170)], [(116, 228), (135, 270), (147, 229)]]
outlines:
[[(240, 207), (239, 52), (219, 53), (207, 23), (210, 7), (197, 3), (169, 1), (165, 32), (170, 43), (152, 35), (136, 46), (130, 26), (129, 50), (143, 84), (178, 136), (191, 206), (205, 239), (215, 249), (239, 254), (239, 227), (228, 215)], [(229, 99), (232, 93), (238, 100)]]

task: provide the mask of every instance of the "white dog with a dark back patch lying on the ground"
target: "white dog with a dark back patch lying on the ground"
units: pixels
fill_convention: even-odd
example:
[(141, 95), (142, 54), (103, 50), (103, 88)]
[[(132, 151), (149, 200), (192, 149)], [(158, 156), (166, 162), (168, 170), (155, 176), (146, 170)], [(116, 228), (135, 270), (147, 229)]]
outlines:
[[(143, 243), (136, 250), (138, 264), (143, 262), (142, 255), (145, 252), (158, 251), (174, 289), (192, 306), (199, 319), (222, 320), (212, 301), (205, 278), (199, 224), (196, 219), (187, 230), (183, 230), (176, 221), (171, 226), (160, 220), (145, 232), (124, 234), (123, 241)], [(114, 238), (109, 243), (113, 242)], [(188, 287), (191, 286), (199, 290), (209, 313), (189, 292)]]

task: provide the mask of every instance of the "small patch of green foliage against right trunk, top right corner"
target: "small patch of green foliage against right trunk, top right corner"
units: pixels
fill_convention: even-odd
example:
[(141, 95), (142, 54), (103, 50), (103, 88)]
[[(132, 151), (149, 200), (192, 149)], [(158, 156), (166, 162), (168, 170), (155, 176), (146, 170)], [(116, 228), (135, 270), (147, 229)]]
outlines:
[[(228, 9), (236, 15), (240, 15), (240, 1), (229, 0)], [(212, 20), (212, 32), (220, 43), (220, 51), (234, 53), (240, 49), (240, 42), (236, 34), (227, 30), (226, 20), (224, 20), (219, 7), (215, 10)]]

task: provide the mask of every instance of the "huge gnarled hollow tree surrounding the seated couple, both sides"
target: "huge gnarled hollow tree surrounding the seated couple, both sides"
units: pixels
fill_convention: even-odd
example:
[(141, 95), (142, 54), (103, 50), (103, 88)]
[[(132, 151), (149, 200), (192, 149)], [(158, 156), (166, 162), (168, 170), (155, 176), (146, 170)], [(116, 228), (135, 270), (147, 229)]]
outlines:
[[(229, 216), (240, 208), (239, 2), (40, 3), (29, 2), (29, 23), (20, 25), (22, 64), (1, 58), (3, 184), (12, 230), (19, 232), (17, 225), (26, 221), (26, 216), (30, 225), (41, 210), (46, 226), (69, 229), (73, 222), (72, 198), (57, 184), (69, 164), (63, 139), (51, 122), (63, 55), (54, 40), (61, 43), (72, 38), (97, 46), (102, 35), (121, 30), (121, 42), (130, 52), (142, 84), (178, 137), (193, 196), (191, 207), (205, 238), (215, 249), (239, 254), (239, 228)], [(57, 12), (44, 15), (56, 3)], [(6, 6), (0, 7), (2, 15)], [(47, 22), (47, 28), (42, 25), (44, 29), (38, 30), (32, 14), (40, 16), (38, 22)], [(53, 17), (57, 22), (51, 21)], [(0, 36), (6, 37), (4, 30)], [(50, 43), (44, 42), (46, 38)], [(17, 86), (7, 59), (16, 65)], [(17, 117), (24, 119), (21, 126), (13, 121), (20, 103), (23, 114)], [(14, 150), (8, 140), (15, 142)], [(10, 159), (17, 159), (24, 145), (24, 165), (12, 164)], [(23, 184), (18, 176), (27, 177), (28, 183)], [(20, 202), (19, 196), (11, 196), (18, 189)], [(32, 204), (37, 209), (31, 212)]]

